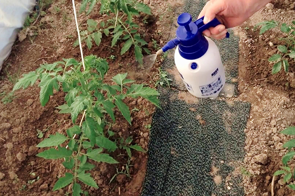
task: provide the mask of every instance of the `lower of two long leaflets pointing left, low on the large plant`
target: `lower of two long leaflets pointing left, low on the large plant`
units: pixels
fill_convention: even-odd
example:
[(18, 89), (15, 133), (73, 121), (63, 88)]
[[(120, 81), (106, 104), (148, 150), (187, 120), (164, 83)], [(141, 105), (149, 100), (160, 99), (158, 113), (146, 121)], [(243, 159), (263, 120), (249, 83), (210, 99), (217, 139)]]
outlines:
[(36, 156), (42, 157), (44, 159), (60, 159), (71, 157), (72, 153), (72, 150), (67, 150), (65, 147), (59, 147), (59, 150), (56, 150), (55, 148), (50, 148), (38, 153)]

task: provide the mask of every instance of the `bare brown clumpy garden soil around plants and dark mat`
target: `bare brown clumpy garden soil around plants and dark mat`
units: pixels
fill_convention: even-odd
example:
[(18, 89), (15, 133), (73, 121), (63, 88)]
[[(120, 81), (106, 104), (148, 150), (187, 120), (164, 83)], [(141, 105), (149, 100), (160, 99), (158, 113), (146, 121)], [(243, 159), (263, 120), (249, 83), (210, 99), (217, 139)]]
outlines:
[[(144, 2), (148, 3), (152, 8), (153, 17), (148, 20), (148, 24), (141, 25), (143, 29), (141, 33), (146, 34), (149, 49), (155, 52), (156, 49), (153, 48), (151, 40), (156, 40), (160, 46), (164, 45), (176, 29), (177, 16), (173, 14), (173, 10), (182, 7), (184, 2), (182, 0), (144, 0)], [(242, 174), (242, 179), (238, 179), (242, 182), (239, 187), (243, 186), (243, 192), (246, 196), (271, 195), (272, 174), (282, 166), (281, 158), (286, 153), (286, 150), (282, 149), (282, 144), (290, 139), (290, 137), (283, 136), (279, 132), (287, 126), (295, 125), (295, 102), (292, 93), (294, 88), (291, 85), (293, 76), (284, 73), (275, 76), (271, 75), (271, 65), (267, 62), (272, 50), (275, 50), (276, 45), (279, 43), (275, 39), (279, 34), (277, 34), (276, 30), (273, 30), (266, 33), (265, 36), (260, 36), (258, 31), (253, 31), (253, 26), (264, 20), (275, 19), (281, 22), (294, 20), (295, 13), (292, 5), (294, 2), (292, 0), (275, 0), (272, 3), (273, 7), (269, 6), (269, 8), (262, 9), (245, 24), (234, 29), (236, 36), (240, 38), (239, 77), (233, 81), (234, 83), (238, 81), (237, 90), (239, 95), (227, 99), (227, 103), (223, 103), (228, 108), (231, 108), (231, 104), (235, 101), (251, 103), (250, 116), (244, 129), (245, 156), (243, 161), (233, 162), (228, 168), (228, 171), (231, 171), (233, 176), (241, 176)], [(76, 2), (76, 6), (79, 9), (80, 1)], [(60, 11), (57, 12), (55, 7), (59, 7)], [(79, 24), (82, 24), (81, 29), (86, 28), (88, 18), (98, 21), (107, 19), (106, 16), (101, 17), (98, 10), (99, 5), (95, 7), (89, 16), (86, 17), (85, 14), (79, 15)], [(144, 16), (140, 16), (137, 21), (141, 23), (143, 18)], [(171, 22), (175, 24), (173, 28), (171, 28)], [(7, 98), (7, 94), (11, 92), (14, 82), (23, 73), (35, 70), (39, 67), (39, 64), (45, 62), (52, 63), (62, 58), (72, 57), (77, 60), (81, 59), (79, 49), (72, 47), (72, 44), (77, 39), (77, 33), (71, 1), (55, 1), (46, 10), (46, 15), (39, 18), (36, 25), (26, 29), (25, 32), (28, 35), (20, 34), (20, 40), (25, 39), (22, 42), (16, 42), (0, 73), (0, 196), (71, 195), (71, 187), (52, 192), (54, 183), (65, 172), (61, 162), (45, 160), (35, 156), (35, 154), (42, 151), (35, 147), (42, 141), (37, 137), (37, 130), (43, 131), (44, 138), (47, 138), (49, 134), (57, 131), (64, 134), (65, 130), (71, 126), (70, 117), (57, 114), (58, 111), (55, 109), (55, 107), (64, 103), (64, 94), (55, 92), (49, 103), (45, 107), (41, 107), (37, 81), (34, 86), (29, 87), (27, 90), (17, 91), (12, 97), (12, 102), (3, 103), (3, 98)], [(38, 32), (38, 35), (34, 35), (34, 32)], [(267, 40), (268, 38), (269, 40)], [(249, 39), (251, 40), (249, 41)], [(252, 43), (250, 46), (249, 42)], [(272, 42), (274, 46), (270, 47), (269, 42)], [(103, 37), (102, 47), (93, 47), (89, 51), (85, 44), (83, 45), (86, 55), (94, 54), (104, 58), (111, 55), (117, 56), (115, 60), (108, 58), (110, 72), (106, 78), (107, 81), (117, 73), (128, 72), (130, 78), (138, 82), (145, 82), (153, 87), (153, 82), (150, 83), (150, 75), (157, 73), (156, 68), (159, 67), (161, 62), (157, 62), (150, 70), (145, 70), (145, 74), (140, 74), (140, 69), (135, 63), (133, 50), (120, 56), (118, 52), (121, 48), (120, 44), (113, 49), (109, 48), (109, 45), (110, 39), (106, 37)], [(294, 67), (294, 63), (290, 64), (290, 66), (291, 68)], [(291, 73), (293, 73), (293, 70), (291, 69)], [(173, 69), (170, 69), (170, 71), (177, 73)], [(288, 85), (286, 85), (287, 83)], [(185, 91), (179, 91), (178, 89), (180, 88), (177, 87), (174, 91), (167, 92), (166, 95), (174, 94), (175, 96), (172, 96), (172, 98), (178, 97), (188, 101), (189, 104), (200, 104)], [(178, 100), (179, 102), (183, 103), (181, 100)], [(139, 109), (139, 111), (132, 113), (133, 126), (130, 127), (117, 112), (118, 120), (112, 129), (116, 132), (116, 137), (122, 136), (126, 138), (132, 135), (134, 143), (148, 149), (149, 130), (146, 125), (152, 122), (151, 117), (155, 108), (141, 98), (127, 100), (126, 103), (131, 109)], [(196, 112), (198, 108), (187, 109), (191, 114)], [(206, 124), (206, 119), (199, 116), (196, 116), (196, 119), (200, 124)], [(182, 138), (179, 139), (182, 140)], [(109, 184), (110, 179), (116, 173), (116, 168), (121, 170), (122, 167), (125, 167), (124, 164), (127, 163), (127, 155), (123, 151), (118, 151), (117, 154), (112, 154), (112, 156), (115, 157), (120, 153), (123, 156), (118, 158), (119, 165), (93, 163), (96, 165), (96, 170), (92, 171), (91, 174), (100, 188), (96, 190), (84, 185), (82, 186), (83, 190), (95, 196), (141, 195), (148, 156), (144, 153), (132, 151), (131, 178), (119, 175), (114, 182)], [(170, 153), (176, 158), (179, 155), (177, 149), (174, 148), (170, 149)], [(219, 162), (219, 164), (222, 165), (222, 162)], [(241, 170), (241, 167), (244, 170)], [(295, 167), (294, 162), (291, 162), (291, 167)], [(210, 175), (207, 175), (207, 177), (210, 180), (213, 179), (214, 184), (226, 186), (223, 189), (227, 189), (227, 182), (223, 183), (224, 178), (227, 176), (219, 175), (219, 171), (220, 168), (211, 167), (211, 170), (202, 172), (207, 172)], [(37, 178), (40, 179), (36, 180)], [(227, 178), (227, 180), (230, 179)], [(228, 185), (232, 186), (231, 184)], [(191, 187), (186, 188), (188, 191), (192, 189)], [(274, 190), (276, 196), (295, 195), (294, 192), (286, 188), (279, 177), (275, 180)], [(184, 193), (183, 195), (188, 194)]]

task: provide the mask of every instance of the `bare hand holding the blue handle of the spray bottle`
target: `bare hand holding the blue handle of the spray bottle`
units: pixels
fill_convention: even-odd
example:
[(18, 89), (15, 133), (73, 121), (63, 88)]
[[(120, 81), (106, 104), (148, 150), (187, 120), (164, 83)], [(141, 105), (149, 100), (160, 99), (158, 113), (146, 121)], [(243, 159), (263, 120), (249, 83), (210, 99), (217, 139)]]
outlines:
[(241, 25), (255, 12), (266, 6), (271, 0), (209, 0), (199, 14), (207, 24), (215, 17), (223, 24), (211, 27), (203, 32), (214, 39), (225, 38), (226, 28)]

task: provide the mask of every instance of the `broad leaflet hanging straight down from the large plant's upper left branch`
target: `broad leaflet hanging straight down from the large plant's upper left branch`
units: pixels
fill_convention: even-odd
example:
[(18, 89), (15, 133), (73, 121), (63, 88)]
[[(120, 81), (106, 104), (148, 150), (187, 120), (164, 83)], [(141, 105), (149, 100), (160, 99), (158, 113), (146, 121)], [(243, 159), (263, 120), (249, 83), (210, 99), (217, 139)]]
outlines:
[(51, 78), (50, 76), (42, 77), (41, 82), (39, 84), (41, 87), (40, 90), (40, 102), (42, 106), (45, 106), (49, 100), (49, 97), (53, 95), (53, 88), (57, 91), (59, 90), (59, 84), (57, 78)]

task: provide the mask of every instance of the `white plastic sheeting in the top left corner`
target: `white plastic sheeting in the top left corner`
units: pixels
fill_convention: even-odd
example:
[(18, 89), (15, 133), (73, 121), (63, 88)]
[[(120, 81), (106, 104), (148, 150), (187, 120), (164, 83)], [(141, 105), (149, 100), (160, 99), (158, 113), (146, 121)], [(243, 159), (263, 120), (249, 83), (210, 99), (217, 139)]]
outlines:
[(0, 0), (0, 71), (36, 0)]

